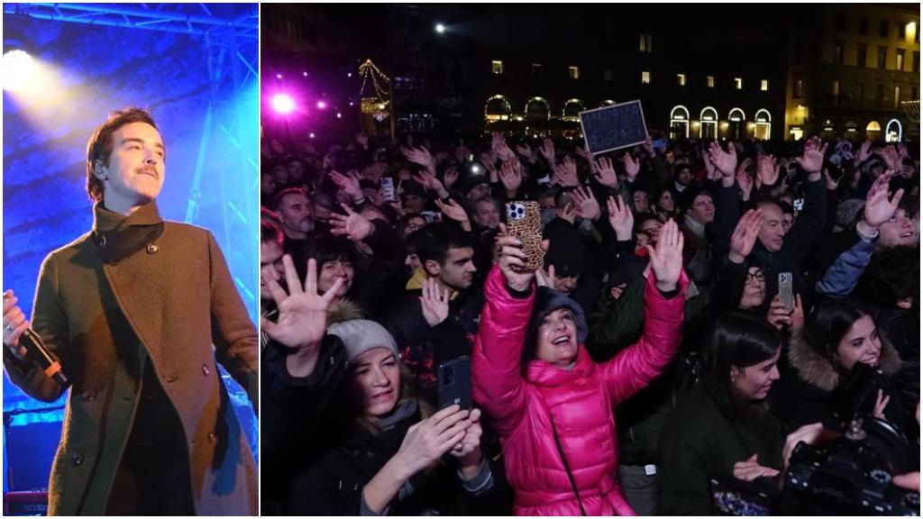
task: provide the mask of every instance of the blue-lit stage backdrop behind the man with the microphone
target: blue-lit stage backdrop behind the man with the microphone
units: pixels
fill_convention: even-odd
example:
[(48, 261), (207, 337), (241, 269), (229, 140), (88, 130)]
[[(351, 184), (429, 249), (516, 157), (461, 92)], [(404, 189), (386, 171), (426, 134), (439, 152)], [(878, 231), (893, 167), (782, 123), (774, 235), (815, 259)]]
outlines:
[[(5, 83), (4, 289), (29, 315), (42, 259), (90, 229), (90, 133), (110, 111), (138, 105), (169, 149), (162, 216), (211, 230), (257, 322), (258, 6), (43, 8), (4, 5), (4, 52), (24, 50), (35, 64), (23, 90)], [(224, 380), (257, 453), (246, 393)], [(34, 401), (4, 377), (5, 491), (47, 486), (65, 399)]]

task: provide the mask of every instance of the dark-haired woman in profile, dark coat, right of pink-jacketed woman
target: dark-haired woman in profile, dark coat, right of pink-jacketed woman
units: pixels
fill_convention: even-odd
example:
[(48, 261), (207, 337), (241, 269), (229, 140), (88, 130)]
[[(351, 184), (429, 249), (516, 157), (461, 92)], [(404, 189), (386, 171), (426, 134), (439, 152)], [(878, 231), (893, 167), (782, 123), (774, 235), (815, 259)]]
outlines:
[(702, 351), (701, 384), (664, 428), (658, 513), (713, 514), (714, 476), (778, 475), (785, 433), (767, 397), (781, 353), (782, 339), (765, 320), (735, 312), (715, 322)]

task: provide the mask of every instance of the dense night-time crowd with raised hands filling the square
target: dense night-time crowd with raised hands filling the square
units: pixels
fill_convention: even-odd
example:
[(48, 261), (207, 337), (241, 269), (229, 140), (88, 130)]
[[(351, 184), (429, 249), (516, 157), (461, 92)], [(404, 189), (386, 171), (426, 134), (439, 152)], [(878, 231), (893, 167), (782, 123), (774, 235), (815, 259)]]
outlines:
[[(266, 139), (263, 513), (711, 514), (856, 416), (918, 471), (918, 156), (653, 142)], [(440, 405), (464, 357), (473, 407)]]

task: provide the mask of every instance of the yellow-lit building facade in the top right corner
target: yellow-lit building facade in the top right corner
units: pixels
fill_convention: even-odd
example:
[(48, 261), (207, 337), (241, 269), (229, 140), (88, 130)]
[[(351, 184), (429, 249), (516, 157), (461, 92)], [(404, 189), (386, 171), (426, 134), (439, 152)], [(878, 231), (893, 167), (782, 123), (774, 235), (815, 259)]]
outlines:
[(919, 6), (844, 4), (805, 12), (790, 39), (786, 138), (918, 140)]

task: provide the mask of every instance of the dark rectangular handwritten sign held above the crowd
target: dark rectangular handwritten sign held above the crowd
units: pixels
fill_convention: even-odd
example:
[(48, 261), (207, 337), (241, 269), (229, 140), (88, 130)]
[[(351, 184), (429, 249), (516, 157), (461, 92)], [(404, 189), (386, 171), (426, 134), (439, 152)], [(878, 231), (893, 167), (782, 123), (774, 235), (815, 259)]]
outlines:
[(647, 139), (641, 101), (613, 104), (580, 113), (583, 139), (591, 153), (620, 150)]

